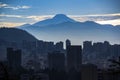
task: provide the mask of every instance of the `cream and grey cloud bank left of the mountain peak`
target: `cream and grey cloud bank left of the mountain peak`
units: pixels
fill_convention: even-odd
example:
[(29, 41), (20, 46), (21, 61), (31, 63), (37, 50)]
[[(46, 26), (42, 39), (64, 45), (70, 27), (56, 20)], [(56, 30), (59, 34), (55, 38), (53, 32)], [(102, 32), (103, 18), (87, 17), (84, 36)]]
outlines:
[[(19, 22), (14, 20), (14, 18), (19, 20)], [(4, 26), (15, 27), (15, 26), (20, 26), (20, 25), (26, 24), (26, 23), (33, 24), (37, 21), (45, 20), (45, 19), (48, 19), (48, 18), (52, 18), (52, 15), (24, 16), (24, 15), (0, 14), (0, 27), (4, 27)], [(12, 19), (12, 22), (11, 22), (11, 19)], [(22, 19), (22, 21), (20, 21), (21, 19)]]

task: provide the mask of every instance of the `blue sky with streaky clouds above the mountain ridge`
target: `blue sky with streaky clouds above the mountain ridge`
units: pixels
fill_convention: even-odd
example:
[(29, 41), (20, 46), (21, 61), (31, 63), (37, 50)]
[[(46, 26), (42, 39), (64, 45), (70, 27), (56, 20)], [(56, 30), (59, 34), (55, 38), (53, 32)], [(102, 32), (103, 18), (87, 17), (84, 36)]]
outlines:
[(66, 14), (77, 21), (120, 25), (120, 0), (0, 0), (0, 27), (15, 27)]

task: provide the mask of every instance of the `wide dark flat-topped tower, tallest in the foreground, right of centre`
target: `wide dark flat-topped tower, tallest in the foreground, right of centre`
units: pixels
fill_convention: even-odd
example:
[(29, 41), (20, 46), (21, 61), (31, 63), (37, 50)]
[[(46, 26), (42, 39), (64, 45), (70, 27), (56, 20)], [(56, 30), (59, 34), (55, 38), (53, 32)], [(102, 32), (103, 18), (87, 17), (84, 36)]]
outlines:
[(79, 70), (82, 64), (82, 47), (81, 46), (68, 46), (67, 47), (67, 69)]

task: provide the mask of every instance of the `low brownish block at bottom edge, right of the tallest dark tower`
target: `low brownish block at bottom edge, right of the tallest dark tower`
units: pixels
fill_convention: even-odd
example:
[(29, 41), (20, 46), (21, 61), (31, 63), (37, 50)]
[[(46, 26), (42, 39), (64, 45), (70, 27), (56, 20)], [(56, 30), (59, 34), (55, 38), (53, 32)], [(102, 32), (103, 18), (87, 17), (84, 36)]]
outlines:
[(98, 80), (98, 69), (93, 64), (82, 64), (81, 67), (82, 80)]

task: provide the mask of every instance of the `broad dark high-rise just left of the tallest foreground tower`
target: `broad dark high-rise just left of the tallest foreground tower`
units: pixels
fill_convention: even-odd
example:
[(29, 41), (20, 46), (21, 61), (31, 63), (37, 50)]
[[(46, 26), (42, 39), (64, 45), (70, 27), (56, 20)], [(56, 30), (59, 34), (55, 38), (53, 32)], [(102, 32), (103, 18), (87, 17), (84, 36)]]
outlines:
[(48, 54), (48, 65), (50, 70), (65, 70), (65, 55), (60, 52)]

